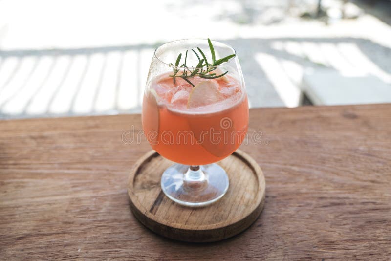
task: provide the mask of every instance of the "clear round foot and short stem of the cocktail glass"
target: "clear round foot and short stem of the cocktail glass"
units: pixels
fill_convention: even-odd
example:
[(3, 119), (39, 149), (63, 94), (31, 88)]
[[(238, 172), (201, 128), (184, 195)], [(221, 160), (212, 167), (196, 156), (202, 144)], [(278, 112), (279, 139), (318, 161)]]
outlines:
[(162, 175), (164, 194), (184, 206), (212, 204), (227, 192), (229, 179), (216, 163), (203, 166), (174, 164)]

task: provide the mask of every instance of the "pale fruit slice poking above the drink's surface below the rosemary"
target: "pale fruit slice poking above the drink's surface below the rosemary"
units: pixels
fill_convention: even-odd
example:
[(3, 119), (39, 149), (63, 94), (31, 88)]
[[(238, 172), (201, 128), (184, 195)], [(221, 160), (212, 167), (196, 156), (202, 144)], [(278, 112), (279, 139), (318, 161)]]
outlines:
[(216, 82), (204, 81), (197, 84), (190, 92), (187, 109), (217, 103), (223, 99)]

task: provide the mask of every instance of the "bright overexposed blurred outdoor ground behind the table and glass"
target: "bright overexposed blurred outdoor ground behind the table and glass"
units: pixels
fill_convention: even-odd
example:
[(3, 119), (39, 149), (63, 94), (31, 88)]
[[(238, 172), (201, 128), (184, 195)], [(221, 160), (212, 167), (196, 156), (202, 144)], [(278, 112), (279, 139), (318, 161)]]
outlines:
[(140, 113), (153, 50), (208, 37), (252, 108), (391, 102), (391, 0), (0, 0), (0, 119)]

